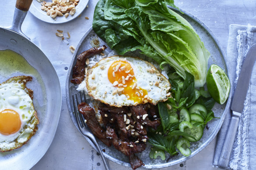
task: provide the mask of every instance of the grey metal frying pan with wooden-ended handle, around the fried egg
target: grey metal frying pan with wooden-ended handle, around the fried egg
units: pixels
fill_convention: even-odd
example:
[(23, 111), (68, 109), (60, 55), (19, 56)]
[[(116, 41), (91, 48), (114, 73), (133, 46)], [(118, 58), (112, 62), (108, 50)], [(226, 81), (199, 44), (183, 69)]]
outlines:
[[(31, 3), (32, 0), (16, 1), (11, 27), (0, 27), (0, 50), (10, 49), (20, 54), (38, 72), (38, 76), (31, 74), (33, 81), (28, 82), (27, 86), (34, 91), (33, 103), (40, 123), (38, 131), (27, 144), (19, 149), (0, 153), (1, 170), (28, 170), (33, 167), (53, 141), (60, 118), (61, 90), (57, 73), (46, 55), (21, 31), (21, 24)], [(0, 82), (20, 75), (24, 73), (0, 76)]]

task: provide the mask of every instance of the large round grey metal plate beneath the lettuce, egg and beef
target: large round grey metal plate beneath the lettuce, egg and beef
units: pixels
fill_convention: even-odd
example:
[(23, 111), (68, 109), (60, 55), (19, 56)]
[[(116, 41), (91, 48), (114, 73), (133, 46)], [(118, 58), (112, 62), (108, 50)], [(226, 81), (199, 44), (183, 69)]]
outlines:
[[(228, 77), (231, 79), (231, 73), (227, 69), (228, 63), (226, 63), (225, 59), (224, 59), (223, 49), (220, 47), (219, 43), (217, 42), (217, 39), (213, 36), (213, 33), (198, 18), (192, 16), (191, 14), (189, 14), (186, 11), (183, 11), (183, 10), (181, 10), (181, 11), (184, 12), (184, 14), (181, 14), (178, 10), (175, 10), (175, 12), (177, 12), (178, 14), (181, 14), (181, 16), (184, 17), (195, 28), (199, 37), (204, 42), (206, 49), (208, 49), (208, 51), (211, 54), (211, 57), (208, 61), (208, 69), (210, 68), (210, 65), (217, 64), (222, 69), (224, 69), (224, 71), (227, 73)], [(75, 94), (77, 86), (70, 83), (70, 80), (72, 77), (72, 68), (76, 62), (76, 56), (78, 54), (80, 54), (81, 52), (92, 48), (93, 39), (99, 39), (100, 45), (106, 45), (105, 42), (103, 42), (100, 38), (97, 37), (96, 33), (92, 30), (92, 28), (90, 28), (89, 31), (87, 31), (85, 33), (85, 35), (83, 36), (83, 38), (81, 39), (81, 41), (79, 42), (79, 44), (75, 50), (73, 59), (71, 61), (71, 66), (69, 68), (67, 82), (66, 82), (66, 97), (67, 97), (68, 110), (69, 110), (70, 117), (76, 127), (77, 127), (77, 125), (76, 125), (76, 121), (75, 121), (75, 116), (72, 112), (71, 97), (72, 97), (72, 94)], [(108, 47), (107, 52), (110, 52), (110, 51), (111, 51), (111, 49)], [(229, 110), (230, 101), (231, 101), (231, 92), (229, 94), (228, 101), (225, 104), (223, 104), (223, 105), (215, 104), (215, 106), (213, 107), (212, 110), (214, 112), (214, 115), (216, 117), (220, 117), (220, 118), (213, 119), (212, 121), (210, 121), (210, 123), (208, 124), (210, 128), (209, 128), (209, 130), (204, 129), (202, 139), (200, 139), (198, 142), (191, 142), (192, 153), (190, 156), (185, 157), (185, 156), (182, 156), (181, 154), (179, 154), (178, 156), (174, 156), (173, 158), (171, 158), (168, 162), (166, 162), (166, 160), (163, 161), (160, 158), (150, 159), (149, 158), (150, 146), (148, 144), (145, 151), (143, 151), (142, 153), (136, 154), (143, 161), (143, 163), (145, 163), (145, 166), (144, 167), (142, 166), (142, 168), (150, 169), (150, 168), (170, 167), (177, 163), (181, 163), (185, 160), (188, 160), (192, 156), (195, 156), (197, 153), (199, 153), (202, 149), (204, 149), (213, 140), (213, 138), (217, 135), (218, 131), (220, 130), (220, 127), (224, 121), (227, 111)], [(92, 145), (92, 147), (94, 149), (96, 149), (96, 147), (93, 145), (93, 143), (87, 137), (85, 137), (85, 139)], [(106, 152), (103, 152), (103, 155), (106, 158), (108, 158), (109, 160), (111, 160), (115, 163), (118, 163), (120, 165), (130, 167), (130, 163), (128, 161), (127, 156), (122, 154), (120, 151), (117, 151), (113, 146), (107, 147), (99, 140), (98, 140), (98, 143), (99, 143), (101, 149), (106, 150)], [(166, 156), (168, 156), (168, 155), (166, 155)]]

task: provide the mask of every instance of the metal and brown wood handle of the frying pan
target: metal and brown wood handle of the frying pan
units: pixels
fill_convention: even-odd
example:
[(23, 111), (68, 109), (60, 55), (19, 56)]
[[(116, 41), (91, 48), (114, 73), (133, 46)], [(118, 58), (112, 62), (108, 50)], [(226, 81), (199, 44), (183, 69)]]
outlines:
[[(20, 33), (21, 35), (28, 38), (22, 31), (21, 25), (28, 13), (29, 7), (32, 3), (32, 0), (17, 0), (16, 1), (16, 8), (14, 10), (13, 21), (9, 29)], [(30, 40), (30, 38), (28, 38)]]

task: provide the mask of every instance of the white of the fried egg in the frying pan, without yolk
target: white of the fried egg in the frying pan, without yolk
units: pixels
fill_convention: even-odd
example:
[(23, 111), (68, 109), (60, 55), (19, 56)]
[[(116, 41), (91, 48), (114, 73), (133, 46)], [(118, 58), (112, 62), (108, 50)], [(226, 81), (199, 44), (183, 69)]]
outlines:
[(0, 84), (0, 111), (5, 109), (12, 109), (19, 114), (21, 128), (18, 132), (11, 135), (0, 133), (1, 152), (22, 146), (30, 139), (35, 129), (37, 130), (36, 125), (39, 123), (35, 116), (36, 111), (32, 99), (21, 81)]

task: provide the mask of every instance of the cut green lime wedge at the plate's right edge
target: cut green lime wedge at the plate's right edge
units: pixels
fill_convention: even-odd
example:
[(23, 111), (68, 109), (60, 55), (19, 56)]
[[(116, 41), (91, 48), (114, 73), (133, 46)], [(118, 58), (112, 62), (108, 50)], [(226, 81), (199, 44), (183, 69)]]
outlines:
[(215, 64), (211, 65), (206, 76), (206, 85), (213, 99), (224, 104), (228, 99), (230, 82), (223, 69)]

